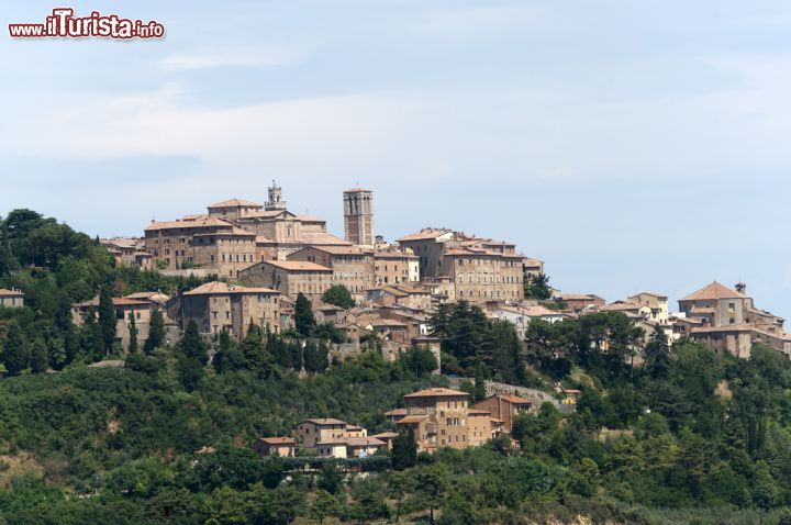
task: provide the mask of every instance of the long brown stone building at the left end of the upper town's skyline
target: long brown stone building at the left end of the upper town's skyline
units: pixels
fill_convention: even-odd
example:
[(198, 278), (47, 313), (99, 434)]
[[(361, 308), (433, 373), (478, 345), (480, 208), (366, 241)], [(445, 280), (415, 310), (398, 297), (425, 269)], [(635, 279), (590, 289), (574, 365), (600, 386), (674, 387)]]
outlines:
[(235, 278), (256, 260), (255, 234), (207, 215), (153, 222), (145, 230), (145, 249), (163, 269), (204, 268)]

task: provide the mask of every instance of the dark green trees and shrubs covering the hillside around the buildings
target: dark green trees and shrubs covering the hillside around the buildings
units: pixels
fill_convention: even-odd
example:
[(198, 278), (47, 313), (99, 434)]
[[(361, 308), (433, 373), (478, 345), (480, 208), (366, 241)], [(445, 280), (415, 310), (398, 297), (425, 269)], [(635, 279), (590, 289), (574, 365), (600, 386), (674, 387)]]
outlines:
[[(385, 411), (446, 379), (420, 353), (330, 362), (321, 337), (309, 356), (272, 334), (207, 343), (194, 327), (174, 347), (141, 344), (125, 368), (86, 367), (105, 348), (96, 327), (71, 325), (71, 302), (100, 287), (188, 286), (114, 268), (96, 241), (33, 212), (0, 223), (0, 287), (22, 288), (27, 304), (0, 310), (0, 358), (44, 348), (59, 370), (29, 360), (0, 380), (4, 523), (791, 523), (791, 365), (771, 349), (737, 360), (659, 333), (642, 348), (608, 314), (531, 324), (522, 356), (508, 326), (448, 306), (435, 320), (447, 371), (548, 391), (559, 381), (582, 390), (576, 411), (520, 416), (516, 449), (501, 438), (399, 449), (364, 473), (302, 471), (249, 446), (307, 416), (392, 428)], [(633, 367), (638, 350), (646, 362)], [(313, 371), (300, 378), (303, 365)], [(196, 453), (207, 446), (216, 451)]]

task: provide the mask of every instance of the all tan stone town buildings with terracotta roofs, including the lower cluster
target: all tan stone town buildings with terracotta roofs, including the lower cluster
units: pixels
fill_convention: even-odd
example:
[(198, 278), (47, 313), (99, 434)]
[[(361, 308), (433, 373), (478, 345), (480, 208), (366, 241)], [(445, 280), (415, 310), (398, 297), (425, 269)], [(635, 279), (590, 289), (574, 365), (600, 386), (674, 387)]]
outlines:
[[(171, 343), (191, 322), (209, 339), (227, 333), (242, 342), (252, 327), (289, 334), (297, 328), (297, 303), (303, 298), (315, 323), (333, 327), (328, 350), (337, 358), (371, 348), (376, 340), (375, 348), (390, 362), (410, 349), (430, 350), (435, 373), (443, 368), (443, 338), (432, 319), (457, 301), (480, 308), (490, 320), (511, 323), (520, 346), (527, 344), (536, 320), (554, 324), (613, 312), (637, 328), (643, 340), (636, 347), (661, 332), (668, 342), (688, 338), (739, 358), (749, 357), (756, 344), (791, 356), (783, 320), (757, 309), (744, 283), (734, 289), (706, 284), (681, 299), (678, 312), (657, 292), (608, 303), (592, 293), (549, 288), (544, 264), (505, 241), (425, 227), (388, 243), (375, 233), (370, 190), (344, 191), (343, 210), (342, 238), (327, 232), (322, 219), (290, 212), (272, 181), (263, 205), (231, 199), (210, 204), (204, 214), (152, 222), (142, 237), (101, 239), (119, 266), (203, 280), (174, 297), (148, 291), (112, 298), (116, 345), (127, 351), (133, 332), (135, 339), (147, 339), (154, 312), (161, 315)], [(347, 304), (328, 299), (338, 290), (348, 295)], [(96, 316), (99, 302), (97, 295), (74, 304), (74, 323), (81, 326)], [(20, 290), (0, 290), (0, 306), (23, 304)], [(602, 350), (608, 350), (606, 340)], [(635, 358), (642, 362), (644, 356), (637, 353)], [(558, 392), (569, 405), (579, 393)], [(420, 450), (433, 451), (510, 435), (513, 417), (536, 412), (547, 401), (542, 392), (519, 386), (490, 394), (476, 404), (467, 392), (428, 389), (406, 395), (404, 407), (386, 415), (398, 428), (414, 433)], [(256, 449), (292, 456), (299, 444), (323, 456), (359, 457), (391, 449), (397, 435), (369, 436), (365, 428), (335, 418), (312, 418), (300, 423), (291, 437), (261, 438)]]

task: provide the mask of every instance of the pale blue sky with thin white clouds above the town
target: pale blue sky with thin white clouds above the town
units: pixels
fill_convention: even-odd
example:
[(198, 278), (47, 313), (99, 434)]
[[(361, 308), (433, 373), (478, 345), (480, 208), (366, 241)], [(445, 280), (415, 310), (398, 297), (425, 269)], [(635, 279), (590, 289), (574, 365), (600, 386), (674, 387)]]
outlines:
[[(3, 32), (67, 3), (0, 0)], [(508, 239), (610, 301), (743, 280), (791, 316), (787, 0), (68, 7), (166, 37), (0, 37), (0, 215), (142, 235), (276, 179), (343, 235), (363, 186), (390, 241)]]

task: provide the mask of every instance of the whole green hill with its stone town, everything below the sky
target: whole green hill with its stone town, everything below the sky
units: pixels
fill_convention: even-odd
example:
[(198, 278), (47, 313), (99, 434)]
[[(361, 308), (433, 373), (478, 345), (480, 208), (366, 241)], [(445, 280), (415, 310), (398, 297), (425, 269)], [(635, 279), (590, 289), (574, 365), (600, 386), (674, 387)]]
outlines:
[(237, 498), (242, 522), (370, 523), (403, 500), (416, 523), (647, 524), (656, 507), (750, 521), (791, 502), (791, 337), (745, 283), (678, 309), (655, 291), (606, 301), (550, 287), (508, 241), (387, 242), (370, 190), (343, 210), (341, 237), (272, 182), (265, 204), (140, 237), (0, 221), (0, 461), (42, 491), (36, 509), (133, 501), (140, 523), (174, 498), (225, 523)]

